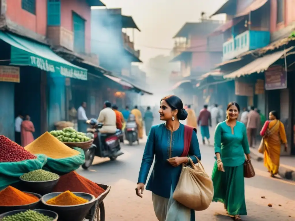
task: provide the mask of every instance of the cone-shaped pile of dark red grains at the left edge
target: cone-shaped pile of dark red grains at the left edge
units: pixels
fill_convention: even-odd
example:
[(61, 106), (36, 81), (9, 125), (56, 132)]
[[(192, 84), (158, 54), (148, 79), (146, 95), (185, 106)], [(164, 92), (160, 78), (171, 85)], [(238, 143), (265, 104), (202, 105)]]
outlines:
[(36, 158), (36, 156), (26, 151), (22, 146), (19, 146), (6, 136), (0, 135), (0, 163), (18, 162)]

